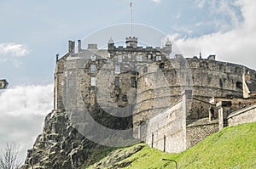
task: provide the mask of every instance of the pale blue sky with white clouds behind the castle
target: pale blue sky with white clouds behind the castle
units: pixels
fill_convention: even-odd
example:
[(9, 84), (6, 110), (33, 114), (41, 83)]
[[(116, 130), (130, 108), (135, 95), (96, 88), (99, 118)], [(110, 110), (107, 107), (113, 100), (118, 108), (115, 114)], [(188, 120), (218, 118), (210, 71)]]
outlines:
[(53, 109), (55, 54), (67, 53), (68, 40), (130, 23), (131, 2), (133, 22), (164, 32), (185, 57), (256, 68), (252, 0), (1, 0), (0, 79), (9, 88), (0, 91), (0, 147), (20, 144), (24, 161)]

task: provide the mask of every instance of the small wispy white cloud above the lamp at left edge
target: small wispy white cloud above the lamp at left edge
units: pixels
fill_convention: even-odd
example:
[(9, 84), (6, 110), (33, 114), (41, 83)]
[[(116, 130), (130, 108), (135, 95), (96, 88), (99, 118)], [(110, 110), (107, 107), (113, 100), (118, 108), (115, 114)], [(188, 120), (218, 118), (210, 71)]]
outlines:
[(30, 51), (24, 44), (15, 42), (0, 43), (0, 54), (11, 54), (12, 56), (23, 56), (29, 54)]

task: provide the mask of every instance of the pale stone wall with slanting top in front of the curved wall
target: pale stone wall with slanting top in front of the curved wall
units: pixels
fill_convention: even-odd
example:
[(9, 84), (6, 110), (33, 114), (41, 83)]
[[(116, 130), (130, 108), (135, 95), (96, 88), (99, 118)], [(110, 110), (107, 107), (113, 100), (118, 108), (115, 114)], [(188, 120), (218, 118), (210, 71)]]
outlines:
[(145, 142), (152, 148), (178, 153), (186, 149), (186, 96), (170, 109), (151, 117)]

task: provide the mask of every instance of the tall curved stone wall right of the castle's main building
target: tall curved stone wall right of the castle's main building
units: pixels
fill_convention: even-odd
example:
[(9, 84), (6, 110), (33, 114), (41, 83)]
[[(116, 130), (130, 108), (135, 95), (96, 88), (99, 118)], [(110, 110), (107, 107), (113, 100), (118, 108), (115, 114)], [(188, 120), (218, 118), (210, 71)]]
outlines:
[[(185, 59), (183, 62), (183, 59), (154, 62), (148, 65), (146, 72), (139, 71), (137, 105), (133, 113), (135, 125), (177, 103), (184, 89), (192, 89), (193, 97), (206, 102), (212, 97), (241, 98), (243, 72), (249, 70), (256, 75), (255, 70), (245, 66), (211, 59)], [(191, 122), (208, 116), (209, 106), (198, 105), (195, 104), (195, 109), (202, 109), (201, 114), (196, 117), (191, 112)]]

